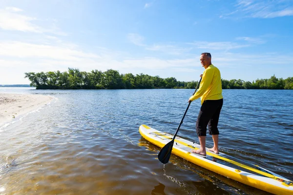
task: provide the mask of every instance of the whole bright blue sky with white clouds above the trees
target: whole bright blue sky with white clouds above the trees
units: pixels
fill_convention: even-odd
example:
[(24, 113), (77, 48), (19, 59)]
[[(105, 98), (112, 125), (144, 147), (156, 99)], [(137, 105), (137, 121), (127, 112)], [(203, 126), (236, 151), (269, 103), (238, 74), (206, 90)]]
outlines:
[(293, 77), (293, 0), (0, 0), (0, 84), (25, 72), (118, 70), (198, 80)]

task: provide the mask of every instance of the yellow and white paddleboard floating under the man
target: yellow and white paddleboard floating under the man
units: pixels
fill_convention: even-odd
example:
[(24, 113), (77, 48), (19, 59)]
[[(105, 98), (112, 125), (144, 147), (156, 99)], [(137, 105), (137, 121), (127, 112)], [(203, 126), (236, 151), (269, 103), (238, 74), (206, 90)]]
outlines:
[[(139, 127), (140, 134), (149, 142), (163, 148), (173, 135), (158, 131), (146, 125)], [(176, 136), (172, 154), (180, 156), (198, 166), (226, 176), (246, 185), (275, 195), (293, 195), (293, 182), (257, 165), (243, 162), (223, 153), (207, 150), (207, 156), (194, 154), (200, 145)]]

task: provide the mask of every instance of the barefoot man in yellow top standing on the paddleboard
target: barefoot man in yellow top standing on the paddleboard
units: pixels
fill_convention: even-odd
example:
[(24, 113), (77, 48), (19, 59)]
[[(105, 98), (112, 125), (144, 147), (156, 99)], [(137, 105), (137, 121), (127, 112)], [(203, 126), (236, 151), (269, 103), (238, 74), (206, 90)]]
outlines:
[(221, 74), (218, 68), (211, 64), (210, 53), (202, 53), (200, 62), (205, 71), (198, 91), (189, 98), (188, 102), (201, 98), (201, 108), (196, 121), (196, 133), (200, 142), (200, 149), (193, 153), (206, 156), (206, 136), (209, 125), (209, 135), (212, 136), (213, 147), (209, 151), (219, 154), (218, 149), (218, 121), (223, 105)]

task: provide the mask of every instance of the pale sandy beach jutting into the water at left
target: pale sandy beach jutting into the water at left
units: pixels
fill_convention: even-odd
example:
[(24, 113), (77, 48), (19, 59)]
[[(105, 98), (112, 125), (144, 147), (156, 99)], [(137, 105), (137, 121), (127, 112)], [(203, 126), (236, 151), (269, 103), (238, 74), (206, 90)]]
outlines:
[(43, 95), (0, 93), (0, 127), (30, 111), (49, 103), (53, 98)]

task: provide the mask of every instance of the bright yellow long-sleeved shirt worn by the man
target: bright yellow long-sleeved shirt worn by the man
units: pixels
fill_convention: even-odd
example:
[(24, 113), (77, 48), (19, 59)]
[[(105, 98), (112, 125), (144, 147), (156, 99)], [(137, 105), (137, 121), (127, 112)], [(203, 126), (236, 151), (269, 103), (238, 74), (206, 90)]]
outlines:
[(223, 98), (221, 73), (219, 69), (212, 64), (204, 71), (198, 91), (191, 96), (189, 100), (193, 101), (199, 97), (201, 98), (201, 104), (203, 104), (205, 100)]

